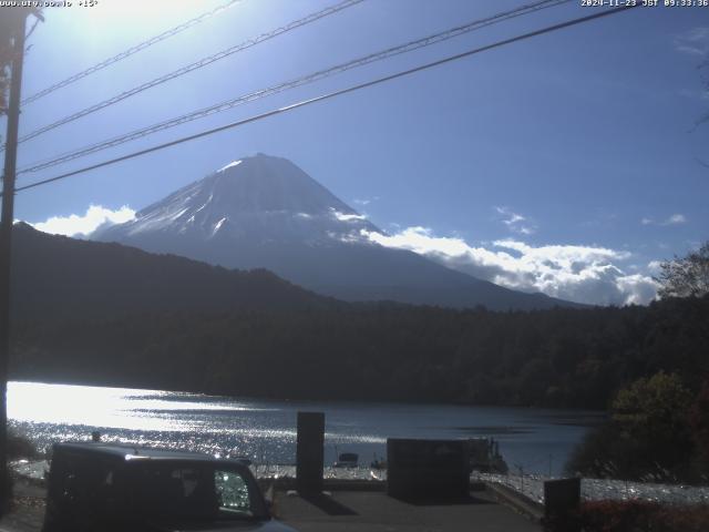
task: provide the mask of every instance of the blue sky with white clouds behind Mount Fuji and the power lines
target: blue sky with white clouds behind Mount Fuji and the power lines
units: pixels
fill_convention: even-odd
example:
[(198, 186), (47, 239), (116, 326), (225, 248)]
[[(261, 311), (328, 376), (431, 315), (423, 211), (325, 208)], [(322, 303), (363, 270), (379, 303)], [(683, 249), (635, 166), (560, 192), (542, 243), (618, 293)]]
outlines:
[[(100, 0), (49, 9), (30, 39), (23, 94), (223, 3)], [(333, 3), (237, 2), (27, 105), (21, 132)], [(522, 3), (366, 0), (28, 141), (20, 167)], [(569, 2), (521, 17), (25, 174), (18, 184), (596, 9)], [(709, 124), (695, 126), (709, 112), (698, 69), (708, 53), (709, 8), (638, 8), (20, 193), (16, 217), (51, 232), (85, 232), (264, 152), (290, 158), (367, 214), (386, 232), (371, 236), (383, 245), (513, 288), (647, 303), (657, 262), (709, 236), (709, 167), (699, 162), (709, 164)]]

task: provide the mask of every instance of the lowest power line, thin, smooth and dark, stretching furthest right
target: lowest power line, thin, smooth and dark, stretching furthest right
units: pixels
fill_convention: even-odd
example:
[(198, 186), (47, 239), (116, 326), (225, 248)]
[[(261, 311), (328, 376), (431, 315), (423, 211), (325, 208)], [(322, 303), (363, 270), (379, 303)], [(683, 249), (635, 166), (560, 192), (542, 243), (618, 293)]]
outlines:
[(615, 9), (610, 9), (610, 10), (606, 10), (606, 11), (600, 11), (598, 13), (589, 14), (587, 17), (580, 17), (580, 18), (577, 18), (577, 19), (572, 19), (572, 20), (568, 20), (566, 22), (561, 22), (558, 24), (548, 25), (546, 28), (542, 28), (541, 30), (535, 30), (535, 31), (532, 31), (532, 32), (528, 32), (528, 33), (523, 33), (521, 35), (516, 35), (516, 37), (513, 37), (513, 38), (510, 38), (510, 39), (497, 41), (497, 42), (494, 42), (492, 44), (487, 44), (487, 45), (484, 45), (484, 47), (481, 47), (481, 48), (475, 48), (473, 50), (469, 50), (469, 51), (465, 51), (465, 52), (462, 52), (462, 53), (458, 53), (455, 55), (449, 55), (446, 58), (443, 58), (443, 59), (440, 59), (438, 61), (433, 61), (433, 62), (430, 62), (430, 63), (425, 63), (425, 64), (415, 66), (413, 69), (400, 71), (400, 72), (397, 72), (397, 73), (393, 73), (393, 74), (389, 74), (389, 75), (386, 75), (386, 76), (382, 76), (382, 78), (378, 78), (378, 79), (374, 79), (374, 80), (371, 80), (371, 81), (367, 81), (364, 83), (359, 83), (357, 85), (351, 85), (351, 86), (348, 86), (347, 89), (340, 89), (338, 91), (330, 92), (330, 93), (327, 93), (327, 94), (322, 94), (322, 95), (319, 95), (319, 96), (315, 96), (315, 98), (311, 98), (309, 100), (302, 100), (300, 102), (297, 102), (297, 103), (294, 103), (294, 104), (290, 104), (290, 105), (286, 105), (284, 108), (275, 109), (275, 110), (271, 110), (271, 111), (268, 111), (268, 112), (265, 112), (265, 113), (260, 113), (260, 114), (256, 114), (254, 116), (249, 116), (248, 119), (238, 120), (238, 121), (232, 122), (229, 124), (225, 124), (225, 125), (222, 125), (222, 126), (218, 126), (218, 127), (213, 127), (210, 130), (202, 131), (202, 132), (195, 133), (193, 135), (183, 136), (181, 139), (177, 139), (177, 140), (174, 140), (174, 141), (171, 141), (171, 142), (158, 144), (156, 146), (152, 146), (152, 147), (148, 147), (148, 149), (145, 149), (145, 150), (140, 150), (137, 152), (133, 152), (133, 153), (130, 153), (127, 155), (122, 155), (120, 157), (115, 157), (115, 158), (112, 158), (112, 160), (109, 160), (109, 161), (104, 161), (102, 163), (92, 164), (90, 166), (84, 166), (83, 168), (74, 170), (72, 172), (68, 172), (65, 174), (61, 174), (61, 175), (58, 175), (58, 176), (54, 176), (54, 177), (50, 177), (48, 180), (38, 181), (35, 183), (31, 183), (29, 185), (24, 185), (24, 186), (18, 187), (17, 192), (27, 191), (29, 188), (34, 188), (34, 187), (38, 187), (38, 186), (41, 186), (41, 185), (45, 185), (45, 184), (49, 184), (49, 183), (54, 183), (56, 181), (61, 181), (61, 180), (65, 180), (68, 177), (74, 176), (74, 175), (83, 174), (83, 173), (90, 172), (92, 170), (101, 168), (101, 167), (109, 166), (109, 165), (112, 165), (112, 164), (116, 164), (116, 163), (120, 163), (120, 162), (123, 162), (123, 161), (135, 158), (135, 157), (138, 157), (141, 155), (145, 155), (145, 154), (148, 154), (148, 153), (152, 153), (152, 152), (164, 150), (166, 147), (172, 147), (172, 146), (175, 146), (177, 144), (183, 144), (185, 142), (194, 141), (196, 139), (208, 136), (208, 135), (212, 135), (214, 133), (222, 132), (222, 131), (226, 131), (226, 130), (230, 130), (230, 129), (234, 129), (234, 127), (238, 127), (240, 125), (245, 125), (245, 124), (248, 124), (248, 123), (251, 123), (251, 122), (256, 122), (258, 120), (267, 119), (269, 116), (275, 116), (277, 114), (287, 113), (289, 111), (294, 111), (296, 109), (304, 108), (304, 106), (310, 105), (312, 103), (322, 102), (325, 100), (330, 100), (332, 98), (340, 96), (342, 94), (348, 94), (350, 92), (359, 91), (360, 89), (366, 89), (366, 88), (378, 85), (378, 84), (381, 84), (381, 83), (384, 83), (384, 82), (388, 82), (388, 81), (392, 81), (392, 80), (395, 80), (395, 79), (399, 79), (399, 78), (411, 75), (413, 73), (421, 72), (423, 70), (432, 69), (434, 66), (440, 66), (442, 64), (446, 64), (446, 63), (450, 63), (452, 61), (458, 61), (459, 59), (467, 58), (470, 55), (474, 55), (474, 54), (477, 54), (477, 53), (486, 52), (486, 51), (493, 50), (495, 48), (501, 48), (501, 47), (504, 47), (506, 44), (512, 44), (514, 42), (518, 42), (518, 41), (523, 41), (523, 40), (526, 40), (526, 39), (531, 39), (533, 37), (542, 35), (544, 33), (551, 33), (553, 31), (562, 30), (564, 28), (569, 28), (569, 27), (573, 27), (573, 25), (582, 24), (584, 22), (589, 22), (592, 20), (596, 20), (596, 19), (599, 19), (602, 17), (608, 17), (610, 14), (620, 13), (623, 11), (627, 11), (629, 9), (634, 9), (634, 8), (638, 7), (638, 6), (640, 6), (640, 4), (625, 6), (625, 7), (621, 7), (621, 8), (615, 8)]

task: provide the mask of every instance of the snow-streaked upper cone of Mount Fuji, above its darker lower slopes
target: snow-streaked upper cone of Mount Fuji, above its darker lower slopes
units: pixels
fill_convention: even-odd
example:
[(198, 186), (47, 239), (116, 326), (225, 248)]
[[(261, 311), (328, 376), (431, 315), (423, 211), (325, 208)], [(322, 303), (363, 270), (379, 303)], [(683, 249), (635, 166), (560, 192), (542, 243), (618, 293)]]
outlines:
[(222, 166), (95, 237), (178, 234), (325, 245), (361, 229), (378, 231), (290, 161), (259, 153)]

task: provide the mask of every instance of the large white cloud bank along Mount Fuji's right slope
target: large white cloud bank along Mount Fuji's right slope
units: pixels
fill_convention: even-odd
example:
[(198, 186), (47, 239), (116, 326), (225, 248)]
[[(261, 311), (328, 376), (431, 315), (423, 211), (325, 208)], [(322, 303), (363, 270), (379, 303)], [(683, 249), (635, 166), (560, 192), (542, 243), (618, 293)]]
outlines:
[(631, 255), (623, 250), (574, 245), (535, 247), (514, 239), (474, 247), (462, 238), (435, 236), (425, 227), (408, 227), (393, 235), (361, 233), (382, 246), (425, 255), (497, 285), (577, 303), (647, 304), (657, 291), (649, 275), (624, 272), (621, 263)]

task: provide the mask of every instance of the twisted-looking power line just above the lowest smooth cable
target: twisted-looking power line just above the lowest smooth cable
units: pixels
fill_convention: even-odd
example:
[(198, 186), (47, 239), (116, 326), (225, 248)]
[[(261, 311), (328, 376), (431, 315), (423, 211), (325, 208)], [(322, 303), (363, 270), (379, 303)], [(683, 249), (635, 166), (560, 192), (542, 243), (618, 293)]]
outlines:
[(368, 55), (361, 57), (361, 58), (357, 58), (354, 60), (348, 61), (346, 63), (340, 63), (338, 65), (335, 66), (330, 66), (328, 69), (325, 70), (320, 70), (314, 73), (310, 73), (308, 75), (301, 76), (301, 78), (297, 78), (295, 80), (290, 80), (277, 85), (273, 85), (269, 86), (267, 89), (261, 89), (258, 90), (256, 92), (251, 92), (248, 94), (244, 94), (240, 95), (238, 98), (232, 99), (232, 100), (227, 100), (225, 102), (220, 102), (214, 105), (210, 105), (208, 108), (203, 108), (201, 110), (197, 111), (193, 111), (191, 113), (186, 113), (183, 114), (181, 116), (176, 116), (174, 119), (169, 119), (167, 121), (163, 121), (163, 122), (158, 122), (156, 124), (146, 126), (146, 127), (142, 127), (140, 130), (134, 130), (132, 132), (125, 133), (123, 135), (116, 136), (116, 137), (112, 137), (105, 141), (101, 141), (99, 143), (95, 144), (91, 144), (89, 146), (84, 146), (82, 149), (79, 150), (74, 150), (72, 152), (69, 153), (64, 153), (62, 155), (55, 156), (49, 161), (44, 161), (44, 162), (40, 162), (40, 163), (33, 163), (30, 166), (27, 166), (22, 170), (20, 170), (18, 172), (18, 174), (24, 174), (24, 173), (29, 173), (29, 172), (39, 172), (40, 170), (44, 170), (51, 166), (55, 166), (58, 164), (62, 164), (69, 161), (73, 161), (75, 158), (79, 157), (83, 157), (86, 155), (90, 155), (92, 153), (102, 151), (102, 150), (106, 150), (109, 147), (114, 147), (121, 144), (124, 144), (126, 142), (136, 140), (136, 139), (141, 139), (143, 136), (147, 136), (150, 134), (160, 132), (160, 131), (164, 131), (171, 127), (175, 127), (177, 125), (184, 124), (186, 122), (191, 122), (197, 119), (202, 119), (205, 116), (209, 116), (212, 114), (215, 113), (219, 113), (223, 111), (227, 111), (229, 109), (236, 108), (237, 105), (242, 105), (244, 103), (248, 103), (255, 100), (260, 100), (261, 98), (266, 98), (273, 94), (277, 94), (290, 89), (295, 89), (308, 83), (312, 83), (316, 81), (320, 81), (325, 78), (329, 78), (331, 75), (354, 69), (354, 68), (359, 68), (359, 66), (363, 66), (366, 64), (370, 64), (373, 63), (376, 61), (381, 61), (384, 59), (389, 59), (392, 58), (394, 55), (400, 55), (402, 53), (408, 53), (414, 50), (419, 50), (421, 48), (424, 47), (429, 47), (432, 44), (436, 44), (439, 42), (449, 40), (449, 39), (453, 39), (455, 37), (459, 37), (463, 33), (467, 33), (471, 31), (475, 31), (482, 28), (485, 28), (487, 25), (492, 25), (505, 20), (510, 20), (516, 17), (521, 17), (524, 14), (528, 14), (532, 13), (534, 11), (540, 11), (542, 9), (547, 9), (551, 7), (555, 7), (562, 3), (567, 3), (571, 0), (542, 0), (542, 1), (537, 1), (535, 3), (531, 3), (531, 4), (526, 4), (526, 6), (521, 6), (518, 8), (515, 8), (511, 11), (504, 11), (502, 13), (497, 13), (494, 14), (492, 17), (487, 17), (485, 19), (479, 19), (472, 22), (467, 22), (463, 25), (459, 25), (455, 28), (451, 28), (449, 30), (444, 30), (438, 33), (433, 33), (430, 34), (428, 37), (421, 38), (421, 39), (417, 39), (417, 40), (412, 40), (409, 42), (405, 42), (403, 44), (397, 45), (397, 47), (392, 47), (376, 53), (370, 53)]

